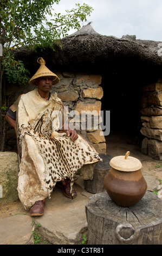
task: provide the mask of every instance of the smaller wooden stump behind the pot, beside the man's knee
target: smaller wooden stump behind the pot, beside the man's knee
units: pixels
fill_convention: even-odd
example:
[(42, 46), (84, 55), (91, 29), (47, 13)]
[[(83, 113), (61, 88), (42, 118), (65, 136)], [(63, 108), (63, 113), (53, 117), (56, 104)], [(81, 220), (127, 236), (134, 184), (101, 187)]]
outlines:
[(94, 167), (93, 179), (84, 180), (85, 188), (90, 193), (100, 193), (105, 191), (105, 186), (103, 185), (103, 180), (108, 173), (111, 166), (109, 161), (113, 158), (111, 155), (99, 154), (103, 161), (98, 162)]

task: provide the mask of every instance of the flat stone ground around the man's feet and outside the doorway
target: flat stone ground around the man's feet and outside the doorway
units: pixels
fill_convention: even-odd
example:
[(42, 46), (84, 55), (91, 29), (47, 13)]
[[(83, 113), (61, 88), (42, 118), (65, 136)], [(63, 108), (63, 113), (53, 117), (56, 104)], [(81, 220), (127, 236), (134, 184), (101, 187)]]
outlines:
[[(141, 161), (147, 190), (154, 191), (158, 187), (162, 180), (162, 161), (141, 154), (139, 146), (133, 144), (134, 138), (128, 141), (127, 135), (107, 136), (106, 143), (107, 154), (125, 155), (126, 151), (130, 151), (130, 156)], [(77, 197), (70, 200), (59, 187), (55, 187), (51, 199), (46, 199), (44, 215), (41, 217), (30, 217), (19, 200), (1, 206), (0, 245), (30, 245), (34, 241), (48, 245), (80, 244), (83, 235), (87, 234), (85, 204), (93, 194), (85, 190), (81, 176), (76, 178), (74, 187)]]

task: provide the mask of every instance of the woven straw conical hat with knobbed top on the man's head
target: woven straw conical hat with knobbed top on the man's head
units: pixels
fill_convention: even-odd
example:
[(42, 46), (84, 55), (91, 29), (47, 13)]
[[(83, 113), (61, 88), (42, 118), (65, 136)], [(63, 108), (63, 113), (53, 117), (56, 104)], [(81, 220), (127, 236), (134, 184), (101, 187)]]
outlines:
[(37, 62), (40, 63), (41, 66), (37, 70), (35, 75), (33, 77), (31, 77), (31, 79), (29, 81), (29, 84), (36, 85), (35, 79), (38, 78), (38, 77), (42, 77), (42, 76), (53, 76), (54, 77), (53, 85), (60, 82), (60, 78), (47, 68), (46, 62), (45, 62), (45, 60), (43, 58), (41, 58), (41, 57), (38, 58)]

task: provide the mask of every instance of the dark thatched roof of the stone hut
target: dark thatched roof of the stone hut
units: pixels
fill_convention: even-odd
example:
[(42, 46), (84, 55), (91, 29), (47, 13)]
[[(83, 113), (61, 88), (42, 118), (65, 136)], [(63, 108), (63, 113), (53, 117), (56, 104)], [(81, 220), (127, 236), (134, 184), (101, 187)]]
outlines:
[(141, 69), (147, 74), (161, 72), (162, 57), (158, 56), (159, 43), (151, 40), (137, 40), (135, 36), (100, 35), (90, 24), (61, 40), (62, 48), (56, 51), (28, 52), (24, 48), (16, 53), (27, 68), (37, 69), (36, 59), (43, 57), (47, 66), (54, 69), (95, 70), (98, 73), (115, 69)]

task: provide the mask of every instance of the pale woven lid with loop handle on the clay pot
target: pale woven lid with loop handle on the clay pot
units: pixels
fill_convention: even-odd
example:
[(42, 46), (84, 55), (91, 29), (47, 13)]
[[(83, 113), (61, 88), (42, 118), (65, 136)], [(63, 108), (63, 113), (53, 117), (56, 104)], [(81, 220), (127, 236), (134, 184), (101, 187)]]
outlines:
[(133, 172), (139, 170), (142, 167), (141, 162), (135, 157), (129, 156), (130, 152), (127, 151), (125, 156), (115, 156), (111, 159), (109, 164), (116, 170), (122, 170), (123, 172)]

